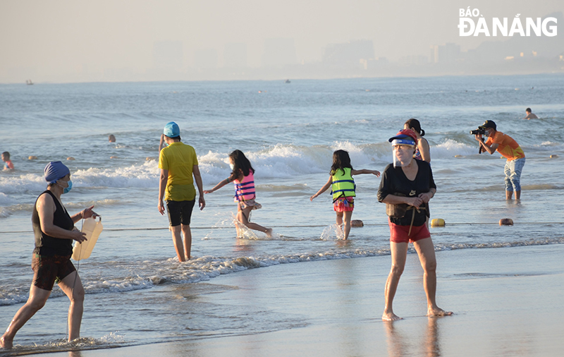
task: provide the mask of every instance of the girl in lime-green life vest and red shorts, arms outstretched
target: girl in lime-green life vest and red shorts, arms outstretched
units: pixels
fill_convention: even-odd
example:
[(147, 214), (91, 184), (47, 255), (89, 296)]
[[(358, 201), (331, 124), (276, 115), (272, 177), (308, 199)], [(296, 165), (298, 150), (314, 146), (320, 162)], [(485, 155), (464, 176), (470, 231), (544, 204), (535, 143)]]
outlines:
[(333, 210), (337, 214), (337, 226), (341, 228), (344, 240), (348, 239), (350, 233), (350, 218), (353, 217), (353, 210), (355, 208), (356, 185), (353, 176), (360, 174), (373, 174), (379, 177), (380, 171), (367, 169), (355, 170), (350, 164), (348, 152), (345, 150), (336, 150), (336, 152), (333, 152), (333, 164), (331, 165), (331, 171), (329, 171), (329, 180), (315, 195), (309, 198), (310, 201), (313, 201), (314, 198), (331, 187)]

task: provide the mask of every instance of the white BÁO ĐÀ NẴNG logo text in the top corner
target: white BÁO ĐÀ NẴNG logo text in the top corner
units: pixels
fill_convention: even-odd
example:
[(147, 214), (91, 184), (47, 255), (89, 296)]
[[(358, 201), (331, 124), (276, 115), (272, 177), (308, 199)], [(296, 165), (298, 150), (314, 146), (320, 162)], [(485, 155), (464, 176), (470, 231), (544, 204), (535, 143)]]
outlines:
[(498, 33), (501, 36), (531, 36), (532, 34), (536, 36), (556, 36), (558, 30), (556, 18), (542, 20), (541, 18), (520, 18), (520, 16), (521, 14), (517, 13), (510, 26), (508, 18), (491, 18), (491, 22), (488, 24), (486, 18), (480, 15), (477, 8), (470, 10), (470, 6), (468, 6), (467, 9), (460, 8), (458, 29), (460, 36), (479, 36), (481, 34), (497, 36)]

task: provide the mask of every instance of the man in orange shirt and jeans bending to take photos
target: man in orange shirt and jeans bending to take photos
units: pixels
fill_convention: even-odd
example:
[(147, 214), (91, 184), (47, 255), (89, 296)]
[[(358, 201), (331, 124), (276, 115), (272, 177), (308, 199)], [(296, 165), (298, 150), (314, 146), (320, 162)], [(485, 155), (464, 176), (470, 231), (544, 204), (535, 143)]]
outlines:
[(515, 200), (521, 198), (521, 171), (525, 165), (525, 152), (519, 144), (509, 135), (496, 130), (496, 123), (491, 120), (484, 121), (479, 128), (486, 131), (488, 140), (484, 143), (482, 135), (475, 135), (484, 151), (494, 154), (496, 150), (507, 159), (505, 162), (505, 199), (511, 200), (515, 190)]

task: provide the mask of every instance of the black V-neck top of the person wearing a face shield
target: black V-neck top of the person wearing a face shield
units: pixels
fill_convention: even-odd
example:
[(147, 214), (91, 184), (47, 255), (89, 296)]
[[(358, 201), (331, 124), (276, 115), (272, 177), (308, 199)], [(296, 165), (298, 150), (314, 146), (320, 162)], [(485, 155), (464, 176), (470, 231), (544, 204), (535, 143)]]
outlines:
[[(414, 181), (410, 181), (405, 176), (401, 167), (394, 168), (393, 164), (386, 166), (378, 189), (379, 202), (382, 202), (387, 195), (397, 195), (397, 193), (401, 193), (407, 197), (417, 197), (419, 193), (427, 193), (431, 188), (436, 189), (429, 162), (421, 160), (415, 160), (415, 162), (417, 162), (418, 169)], [(427, 208), (427, 204), (423, 203), (419, 207)], [(419, 211), (420, 212), (415, 211), (415, 219), (413, 220), (414, 226), (422, 226), (425, 224), (427, 213), (425, 210)], [(408, 210), (404, 217), (390, 217), (390, 221), (393, 224), (409, 226), (411, 224), (411, 217), (412, 211)]]

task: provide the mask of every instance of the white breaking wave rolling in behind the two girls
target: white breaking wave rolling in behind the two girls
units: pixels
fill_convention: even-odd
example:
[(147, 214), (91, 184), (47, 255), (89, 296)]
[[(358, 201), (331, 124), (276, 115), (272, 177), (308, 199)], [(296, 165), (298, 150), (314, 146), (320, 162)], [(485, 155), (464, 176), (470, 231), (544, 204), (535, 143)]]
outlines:
[[(551, 147), (551, 146), (548, 146)], [(273, 145), (262, 150), (245, 152), (256, 170), (257, 178), (295, 178), (307, 174), (327, 174), (331, 167), (333, 151), (347, 150), (355, 168), (384, 169), (392, 162), (389, 143), (354, 144), (336, 141), (331, 145)], [(477, 148), (456, 140), (431, 146), (431, 157), (444, 159), (456, 155), (477, 156)], [(209, 151), (198, 157), (202, 181), (205, 186), (213, 185), (231, 172), (228, 152)], [(155, 188), (159, 186), (159, 163), (157, 160), (144, 161), (126, 167), (78, 169), (73, 171), (75, 188)], [(260, 183), (260, 182), (259, 182)], [(37, 193), (46, 188), (44, 178), (39, 174), (0, 176), (0, 206), (11, 205), (13, 193)], [(0, 213), (1, 214), (1, 213)]]

